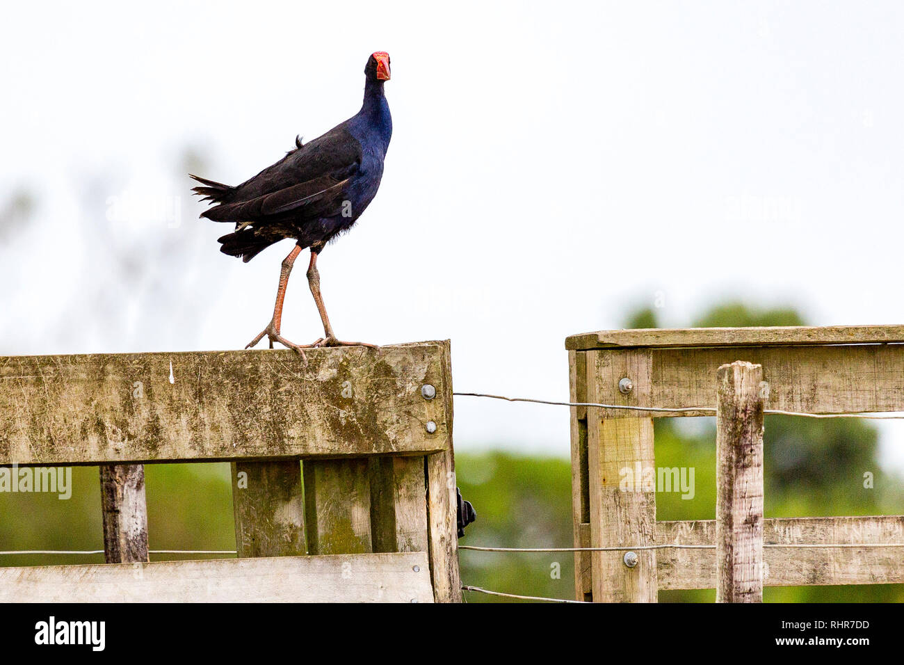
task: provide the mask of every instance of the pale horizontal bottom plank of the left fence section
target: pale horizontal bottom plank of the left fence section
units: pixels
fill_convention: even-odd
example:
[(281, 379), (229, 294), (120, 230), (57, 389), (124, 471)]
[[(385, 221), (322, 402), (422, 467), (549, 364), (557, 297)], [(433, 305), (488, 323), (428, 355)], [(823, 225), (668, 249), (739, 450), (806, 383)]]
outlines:
[(432, 603), (426, 552), (0, 568), (3, 603)]

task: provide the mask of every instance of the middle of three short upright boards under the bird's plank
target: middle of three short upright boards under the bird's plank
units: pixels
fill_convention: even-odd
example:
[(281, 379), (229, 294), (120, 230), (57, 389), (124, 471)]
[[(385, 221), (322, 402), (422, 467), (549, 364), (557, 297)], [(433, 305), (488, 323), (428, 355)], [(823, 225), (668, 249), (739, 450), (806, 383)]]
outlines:
[(306, 460), (303, 469), (307, 551), (372, 552), (368, 461)]

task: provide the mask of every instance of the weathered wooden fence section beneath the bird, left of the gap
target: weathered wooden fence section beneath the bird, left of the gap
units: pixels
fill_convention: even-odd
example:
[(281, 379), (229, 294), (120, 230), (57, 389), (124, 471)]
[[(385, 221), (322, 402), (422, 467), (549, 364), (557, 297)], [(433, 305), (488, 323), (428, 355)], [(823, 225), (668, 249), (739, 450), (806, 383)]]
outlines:
[[(0, 358), (0, 466), (100, 466), (108, 561), (0, 601), (460, 601), (448, 343), (307, 356)], [(148, 563), (142, 464), (184, 461), (232, 462), (239, 558)]]

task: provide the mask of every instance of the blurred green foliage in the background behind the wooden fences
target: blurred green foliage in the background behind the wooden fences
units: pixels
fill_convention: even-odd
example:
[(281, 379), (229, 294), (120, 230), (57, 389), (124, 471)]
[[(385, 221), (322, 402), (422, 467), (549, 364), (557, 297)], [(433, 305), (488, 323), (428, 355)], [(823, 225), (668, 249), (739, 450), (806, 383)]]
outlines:
[[(655, 327), (654, 310), (638, 310), (628, 323)], [(801, 325), (792, 309), (749, 309), (720, 305), (692, 322), (695, 326)], [(562, 432), (563, 442), (568, 433)], [(768, 416), (766, 423), (767, 517), (880, 515), (904, 512), (901, 479), (880, 470), (877, 432), (857, 420), (816, 421)], [(711, 418), (661, 419), (655, 428), (660, 467), (694, 470), (694, 494), (658, 492), (657, 518), (715, 517), (715, 428)], [(489, 447), (489, 446), (488, 446)], [(569, 547), (570, 461), (500, 451), (456, 456), (462, 494), (477, 511), (463, 545)], [(863, 473), (874, 474), (864, 489)], [(98, 470), (72, 470), (71, 499), (52, 494), (0, 492), (0, 549), (99, 549), (102, 547)], [(232, 549), (228, 464), (146, 466), (148, 533), (152, 549)], [(152, 556), (155, 561), (188, 556)], [(200, 558), (203, 558), (201, 556)], [(95, 556), (4, 556), (0, 565), (101, 562)], [(460, 551), (464, 584), (511, 594), (573, 598), (570, 553), (485, 553)], [(714, 592), (661, 592), (666, 602), (711, 602)], [(904, 601), (904, 585), (767, 588), (767, 601)], [(469, 603), (499, 602), (468, 593)]]

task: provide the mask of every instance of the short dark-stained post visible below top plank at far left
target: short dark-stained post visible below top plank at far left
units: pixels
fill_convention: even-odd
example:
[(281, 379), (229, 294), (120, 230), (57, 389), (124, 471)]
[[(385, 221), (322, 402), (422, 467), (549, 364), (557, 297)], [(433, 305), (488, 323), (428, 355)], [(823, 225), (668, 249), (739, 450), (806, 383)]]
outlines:
[(108, 564), (147, 563), (147, 504), (143, 464), (100, 466), (104, 560)]

